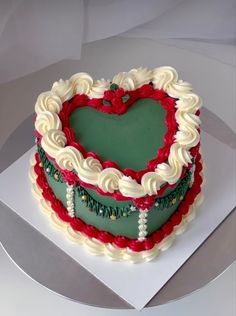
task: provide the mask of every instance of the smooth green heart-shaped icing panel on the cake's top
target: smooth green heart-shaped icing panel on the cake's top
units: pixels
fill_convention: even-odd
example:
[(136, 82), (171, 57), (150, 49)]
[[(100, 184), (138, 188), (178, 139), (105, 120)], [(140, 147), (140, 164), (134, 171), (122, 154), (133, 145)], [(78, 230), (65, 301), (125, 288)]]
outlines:
[(140, 99), (123, 115), (107, 114), (90, 107), (76, 109), (70, 126), (87, 151), (121, 168), (145, 169), (164, 145), (166, 111), (158, 101)]

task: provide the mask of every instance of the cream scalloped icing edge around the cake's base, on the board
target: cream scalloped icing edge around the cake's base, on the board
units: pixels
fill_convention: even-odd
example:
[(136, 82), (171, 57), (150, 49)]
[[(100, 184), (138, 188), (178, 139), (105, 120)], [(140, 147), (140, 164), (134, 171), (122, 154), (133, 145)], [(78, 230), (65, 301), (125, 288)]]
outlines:
[[(101, 256), (105, 255), (110, 260), (116, 261), (129, 261), (132, 263), (148, 262), (156, 258), (162, 251), (167, 250), (173, 244), (175, 238), (185, 232), (188, 224), (196, 217), (196, 208), (203, 202), (202, 191), (196, 196), (194, 203), (189, 207), (189, 212), (182, 217), (179, 225), (174, 227), (173, 232), (166, 236), (160, 243), (156, 244), (150, 250), (134, 252), (129, 248), (118, 248), (112, 243), (102, 243), (95, 238), (89, 238), (85, 234), (75, 231), (70, 224), (62, 221), (57, 214), (53, 211), (50, 204), (43, 198), (41, 189), (36, 183), (36, 174), (34, 171), (35, 164), (34, 154), (30, 159), (29, 179), (31, 181), (31, 190), (33, 196), (38, 200), (41, 210), (47, 214), (54, 228), (63, 231), (67, 238), (73, 243), (80, 244), (92, 255)], [(201, 171), (200, 175), (203, 175)], [(204, 177), (203, 177), (204, 179)], [(202, 187), (202, 186), (201, 186)]]

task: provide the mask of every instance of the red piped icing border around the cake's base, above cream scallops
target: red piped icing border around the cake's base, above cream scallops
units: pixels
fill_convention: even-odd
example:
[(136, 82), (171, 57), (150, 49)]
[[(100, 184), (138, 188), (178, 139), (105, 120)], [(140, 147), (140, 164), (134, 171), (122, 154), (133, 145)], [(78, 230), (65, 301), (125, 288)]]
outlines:
[(195, 160), (196, 168), (194, 173), (194, 183), (187, 191), (178, 209), (160, 229), (155, 231), (144, 241), (139, 241), (138, 239), (130, 239), (124, 236), (114, 236), (109, 232), (101, 231), (92, 225), (86, 224), (79, 218), (70, 217), (63, 203), (56, 198), (53, 190), (49, 186), (44, 169), (40, 165), (38, 153), (35, 154), (35, 159), (36, 163), (34, 165), (34, 171), (37, 176), (37, 185), (42, 190), (44, 199), (50, 203), (51, 208), (61, 220), (69, 223), (75, 231), (81, 232), (90, 238), (95, 238), (105, 244), (112, 243), (119, 248), (129, 248), (134, 252), (150, 250), (156, 244), (160, 243), (165, 237), (170, 235), (173, 232), (174, 227), (181, 223), (183, 216), (188, 213), (189, 207), (193, 204), (196, 196), (201, 192), (202, 176), (200, 173), (202, 171), (202, 163), (201, 155), (198, 153)]

